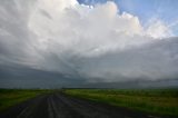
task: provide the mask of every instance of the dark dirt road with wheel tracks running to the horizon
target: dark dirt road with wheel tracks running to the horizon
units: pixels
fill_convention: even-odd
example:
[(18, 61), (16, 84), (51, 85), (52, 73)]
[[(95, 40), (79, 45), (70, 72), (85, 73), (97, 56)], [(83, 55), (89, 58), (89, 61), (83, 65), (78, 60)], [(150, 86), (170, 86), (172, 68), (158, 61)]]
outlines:
[[(1, 112), (0, 118), (162, 118), (60, 92), (39, 96)], [(164, 117), (165, 118), (165, 117)], [(166, 117), (168, 118), (168, 117)]]

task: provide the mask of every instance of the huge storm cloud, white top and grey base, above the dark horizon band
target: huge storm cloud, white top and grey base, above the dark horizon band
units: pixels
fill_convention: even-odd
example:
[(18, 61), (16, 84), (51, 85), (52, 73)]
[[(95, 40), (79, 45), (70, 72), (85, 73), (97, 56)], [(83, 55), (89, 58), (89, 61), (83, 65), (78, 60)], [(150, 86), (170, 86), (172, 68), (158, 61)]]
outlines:
[[(0, 62), (80, 76), (89, 81), (175, 78), (178, 41), (161, 20), (142, 27), (115, 2), (2, 0)], [(99, 79), (96, 79), (99, 78)]]

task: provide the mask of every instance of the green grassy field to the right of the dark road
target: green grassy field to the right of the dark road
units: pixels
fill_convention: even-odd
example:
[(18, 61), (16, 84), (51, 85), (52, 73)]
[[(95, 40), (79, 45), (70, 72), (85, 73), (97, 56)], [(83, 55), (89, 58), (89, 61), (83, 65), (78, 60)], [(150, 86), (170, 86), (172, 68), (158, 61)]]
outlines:
[(66, 89), (70, 96), (157, 115), (178, 116), (178, 89)]

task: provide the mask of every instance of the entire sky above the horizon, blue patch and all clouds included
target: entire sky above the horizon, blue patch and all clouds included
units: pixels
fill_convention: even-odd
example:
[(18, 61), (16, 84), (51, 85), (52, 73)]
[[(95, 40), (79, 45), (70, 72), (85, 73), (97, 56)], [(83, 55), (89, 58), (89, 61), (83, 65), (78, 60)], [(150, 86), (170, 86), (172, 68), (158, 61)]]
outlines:
[(177, 0), (1, 0), (0, 88), (178, 87)]

